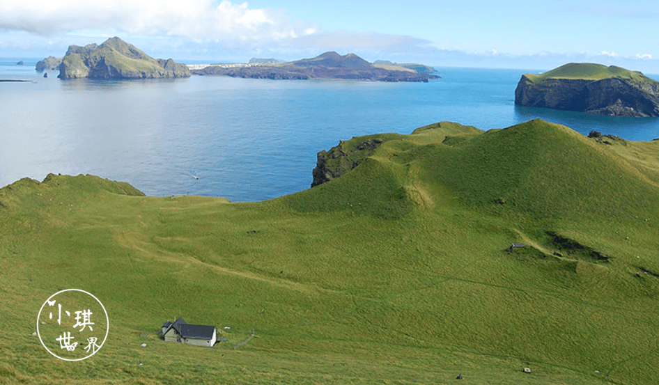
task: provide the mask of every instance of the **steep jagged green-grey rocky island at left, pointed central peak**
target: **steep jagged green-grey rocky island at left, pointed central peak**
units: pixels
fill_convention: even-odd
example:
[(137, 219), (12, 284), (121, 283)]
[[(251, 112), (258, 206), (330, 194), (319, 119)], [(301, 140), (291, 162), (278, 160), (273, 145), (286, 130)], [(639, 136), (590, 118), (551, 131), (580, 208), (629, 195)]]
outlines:
[(71, 45), (59, 67), (60, 79), (146, 79), (189, 77), (185, 64), (155, 59), (120, 38), (101, 45)]

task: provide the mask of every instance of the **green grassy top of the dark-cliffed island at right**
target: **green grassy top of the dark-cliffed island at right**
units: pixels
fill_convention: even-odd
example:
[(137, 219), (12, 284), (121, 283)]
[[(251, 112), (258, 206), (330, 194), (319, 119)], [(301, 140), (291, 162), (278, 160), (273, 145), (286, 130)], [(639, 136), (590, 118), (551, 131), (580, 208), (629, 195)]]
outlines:
[(638, 71), (630, 71), (616, 65), (602, 65), (596, 63), (568, 63), (554, 70), (541, 74), (525, 74), (534, 83), (545, 79), (584, 79), (602, 80), (612, 77), (621, 79), (633, 79), (636, 81), (653, 81)]

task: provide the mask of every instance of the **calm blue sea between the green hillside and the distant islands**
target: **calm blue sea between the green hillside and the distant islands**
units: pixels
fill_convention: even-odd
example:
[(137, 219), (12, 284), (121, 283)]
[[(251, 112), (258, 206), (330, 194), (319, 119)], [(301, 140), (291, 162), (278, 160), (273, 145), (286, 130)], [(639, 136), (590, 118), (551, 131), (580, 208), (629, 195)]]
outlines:
[(521, 74), (538, 70), (437, 68), (442, 79), (429, 83), (61, 81), (37, 73), (38, 60), (0, 58), (0, 79), (33, 81), (0, 82), (0, 186), (90, 173), (152, 196), (261, 201), (309, 188), (316, 153), (339, 139), (442, 120), (492, 129), (543, 118), (583, 134), (659, 137), (658, 118), (516, 107)]

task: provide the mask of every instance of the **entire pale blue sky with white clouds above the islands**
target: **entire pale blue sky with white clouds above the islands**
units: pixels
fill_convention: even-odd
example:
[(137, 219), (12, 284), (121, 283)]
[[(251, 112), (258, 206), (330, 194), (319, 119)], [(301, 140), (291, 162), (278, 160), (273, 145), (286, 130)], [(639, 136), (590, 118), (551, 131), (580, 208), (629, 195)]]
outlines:
[(190, 0), (153, 10), (142, 1), (1, 0), (0, 56), (61, 57), (69, 45), (118, 36), (177, 61), (288, 61), (336, 51), (435, 66), (550, 70), (591, 62), (659, 74), (659, 1)]

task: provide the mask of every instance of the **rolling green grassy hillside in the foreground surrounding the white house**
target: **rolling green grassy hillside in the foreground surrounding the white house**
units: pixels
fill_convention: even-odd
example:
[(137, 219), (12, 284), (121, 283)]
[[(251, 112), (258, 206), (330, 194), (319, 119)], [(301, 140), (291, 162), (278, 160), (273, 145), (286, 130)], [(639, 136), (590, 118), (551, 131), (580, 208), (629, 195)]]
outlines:
[[(0, 384), (656, 383), (659, 141), (532, 120), (342, 145), (365, 139), (352, 171), (259, 203), (84, 175), (0, 189)], [(31, 335), (61, 288), (109, 314), (85, 361)], [(178, 316), (231, 329), (158, 340)]]

